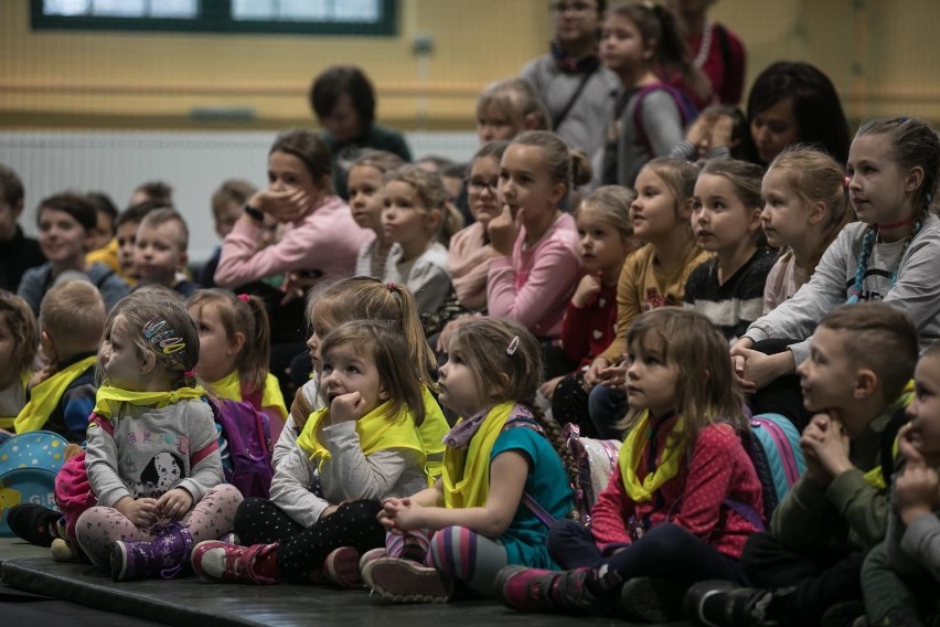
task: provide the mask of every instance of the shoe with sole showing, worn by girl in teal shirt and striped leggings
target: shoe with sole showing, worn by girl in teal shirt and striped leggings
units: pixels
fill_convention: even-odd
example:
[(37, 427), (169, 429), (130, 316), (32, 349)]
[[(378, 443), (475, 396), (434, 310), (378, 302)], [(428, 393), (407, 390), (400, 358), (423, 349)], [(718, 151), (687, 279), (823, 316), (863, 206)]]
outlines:
[(430, 566), (396, 557), (378, 557), (362, 568), (366, 587), (395, 603), (447, 603), (453, 582)]

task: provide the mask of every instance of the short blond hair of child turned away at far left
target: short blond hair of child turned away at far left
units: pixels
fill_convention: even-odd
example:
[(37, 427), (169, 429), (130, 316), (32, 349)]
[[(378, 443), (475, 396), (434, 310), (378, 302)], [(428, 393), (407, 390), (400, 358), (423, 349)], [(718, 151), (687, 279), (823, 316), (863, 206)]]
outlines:
[(49, 336), (60, 359), (98, 350), (105, 329), (105, 301), (94, 285), (70, 280), (45, 293), (40, 305), (40, 330)]

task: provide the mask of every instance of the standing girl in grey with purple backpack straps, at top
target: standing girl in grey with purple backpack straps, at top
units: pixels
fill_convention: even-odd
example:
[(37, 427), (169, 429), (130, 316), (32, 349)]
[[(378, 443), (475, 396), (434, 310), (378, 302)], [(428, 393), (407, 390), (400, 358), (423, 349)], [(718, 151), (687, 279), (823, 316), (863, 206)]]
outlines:
[(688, 121), (682, 96), (655, 74), (658, 66), (688, 65), (675, 21), (659, 4), (611, 7), (603, 19), (600, 59), (620, 77), (623, 92), (607, 132), (601, 182), (633, 187), (643, 164), (669, 155)]

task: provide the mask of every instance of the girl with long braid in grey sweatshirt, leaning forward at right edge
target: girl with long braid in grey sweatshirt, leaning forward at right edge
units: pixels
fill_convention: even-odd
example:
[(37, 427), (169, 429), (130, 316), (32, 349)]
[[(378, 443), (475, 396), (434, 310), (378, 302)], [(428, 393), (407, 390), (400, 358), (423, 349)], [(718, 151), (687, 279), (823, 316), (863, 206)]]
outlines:
[[(940, 337), (940, 220), (930, 212), (940, 140), (916, 118), (876, 119), (848, 152), (848, 193), (859, 222), (842, 230), (790, 300), (754, 322), (731, 349), (746, 389), (765, 387), (809, 355), (820, 318), (846, 300), (885, 300), (915, 321), (921, 348)], [(766, 355), (767, 339), (795, 341)]]

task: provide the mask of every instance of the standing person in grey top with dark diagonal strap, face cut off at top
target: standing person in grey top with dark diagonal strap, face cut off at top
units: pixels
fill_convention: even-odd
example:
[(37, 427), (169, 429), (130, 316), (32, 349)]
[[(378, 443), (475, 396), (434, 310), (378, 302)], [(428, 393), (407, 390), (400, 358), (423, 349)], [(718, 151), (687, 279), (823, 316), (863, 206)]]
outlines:
[(552, 116), (552, 128), (572, 148), (595, 161), (603, 150), (607, 123), (620, 81), (597, 54), (600, 20), (607, 0), (556, 0), (552, 52), (531, 61), (521, 76), (528, 81)]

